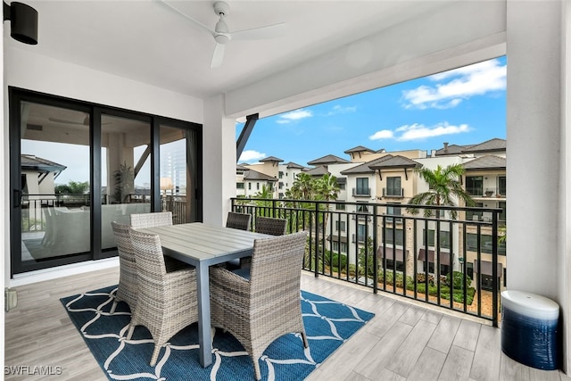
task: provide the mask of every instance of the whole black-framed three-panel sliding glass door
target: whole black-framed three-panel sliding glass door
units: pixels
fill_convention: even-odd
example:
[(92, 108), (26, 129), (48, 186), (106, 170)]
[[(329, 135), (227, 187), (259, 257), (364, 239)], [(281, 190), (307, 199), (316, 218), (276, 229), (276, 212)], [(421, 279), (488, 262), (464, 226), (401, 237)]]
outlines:
[(12, 275), (117, 255), (111, 222), (202, 220), (201, 126), (10, 89)]

